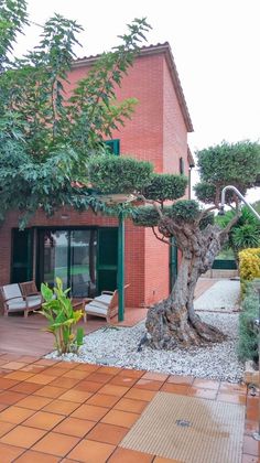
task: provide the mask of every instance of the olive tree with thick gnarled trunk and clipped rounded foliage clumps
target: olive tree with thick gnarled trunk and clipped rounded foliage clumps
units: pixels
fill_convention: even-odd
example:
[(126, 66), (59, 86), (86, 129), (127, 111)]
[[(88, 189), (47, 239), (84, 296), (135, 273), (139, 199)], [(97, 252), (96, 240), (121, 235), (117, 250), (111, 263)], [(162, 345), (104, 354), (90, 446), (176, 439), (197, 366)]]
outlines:
[[(99, 169), (95, 162), (89, 163), (89, 179), (97, 190), (102, 191), (109, 162), (104, 158)], [(107, 192), (120, 190), (123, 162), (123, 159), (113, 160), (113, 169), (106, 177)], [(234, 216), (224, 228), (214, 223), (213, 212), (219, 207), (221, 189), (231, 184), (246, 193), (254, 185), (260, 172), (260, 146), (249, 141), (223, 142), (197, 152), (197, 165), (201, 174), (201, 183), (195, 187), (198, 201), (183, 198), (187, 185), (183, 175), (151, 173), (150, 181), (149, 175), (143, 175), (142, 187), (140, 182), (134, 184), (138, 175), (132, 175), (132, 193), (143, 202), (132, 209), (134, 224), (151, 227), (156, 238), (167, 245), (170, 238), (174, 238), (182, 251), (172, 293), (148, 312), (149, 343), (155, 348), (172, 349), (224, 340), (219, 330), (204, 323), (195, 312), (194, 291), (198, 278), (212, 268), (240, 216), (239, 200), (229, 193), (227, 201), (235, 208)], [(124, 187), (123, 183), (121, 187)]]

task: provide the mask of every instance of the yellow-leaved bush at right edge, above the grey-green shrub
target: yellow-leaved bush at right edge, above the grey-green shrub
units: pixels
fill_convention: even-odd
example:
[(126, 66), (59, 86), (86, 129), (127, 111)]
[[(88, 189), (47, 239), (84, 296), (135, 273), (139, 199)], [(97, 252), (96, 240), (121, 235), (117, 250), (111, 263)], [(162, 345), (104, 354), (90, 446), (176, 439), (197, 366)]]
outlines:
[(260, 278), (260, 248), (245, 249), (239, 252), (239, 272), (243, 295), (247, 283), (254, 278)]

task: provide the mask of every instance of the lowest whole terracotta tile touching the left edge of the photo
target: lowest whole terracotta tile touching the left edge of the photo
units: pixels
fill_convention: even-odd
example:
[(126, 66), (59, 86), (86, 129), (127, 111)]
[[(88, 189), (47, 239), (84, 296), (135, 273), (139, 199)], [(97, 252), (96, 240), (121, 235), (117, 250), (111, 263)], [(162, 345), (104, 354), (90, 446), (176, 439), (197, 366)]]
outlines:
[(3, 435), (0, 441), (9, 445), (18, 445), (23, 446), (24, 449), (29, 449), (45, 433), (46, 431), (43, 431), (42, 429), (17, 426), (8, 434)]

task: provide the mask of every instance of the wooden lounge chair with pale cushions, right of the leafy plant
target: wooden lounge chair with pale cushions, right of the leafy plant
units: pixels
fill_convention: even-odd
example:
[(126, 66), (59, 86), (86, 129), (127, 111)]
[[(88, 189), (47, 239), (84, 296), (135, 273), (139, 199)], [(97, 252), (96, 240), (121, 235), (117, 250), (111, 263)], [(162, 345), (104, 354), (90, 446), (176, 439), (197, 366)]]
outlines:
[[(123, 290), (129, 287), (126, 284)], [(118, 290), (102, 291), (101, 295), (94, 299), (85, 299), (84, 306), (84, 321), (87, 321), (87, 315), (101, 316), (109, 323), (110, 320), (118, 314)]]

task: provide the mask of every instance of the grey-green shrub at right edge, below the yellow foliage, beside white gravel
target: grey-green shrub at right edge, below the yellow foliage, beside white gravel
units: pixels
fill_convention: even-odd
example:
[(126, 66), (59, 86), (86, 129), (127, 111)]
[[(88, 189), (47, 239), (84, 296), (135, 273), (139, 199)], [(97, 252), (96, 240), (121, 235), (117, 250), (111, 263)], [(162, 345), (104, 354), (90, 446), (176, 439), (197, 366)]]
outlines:
[(253, 321), (259, 316), (259, 295), (253, 283), (248, 283), (239, 316), (238, 355), (241, 360), (258, 363), (258, 334)]

